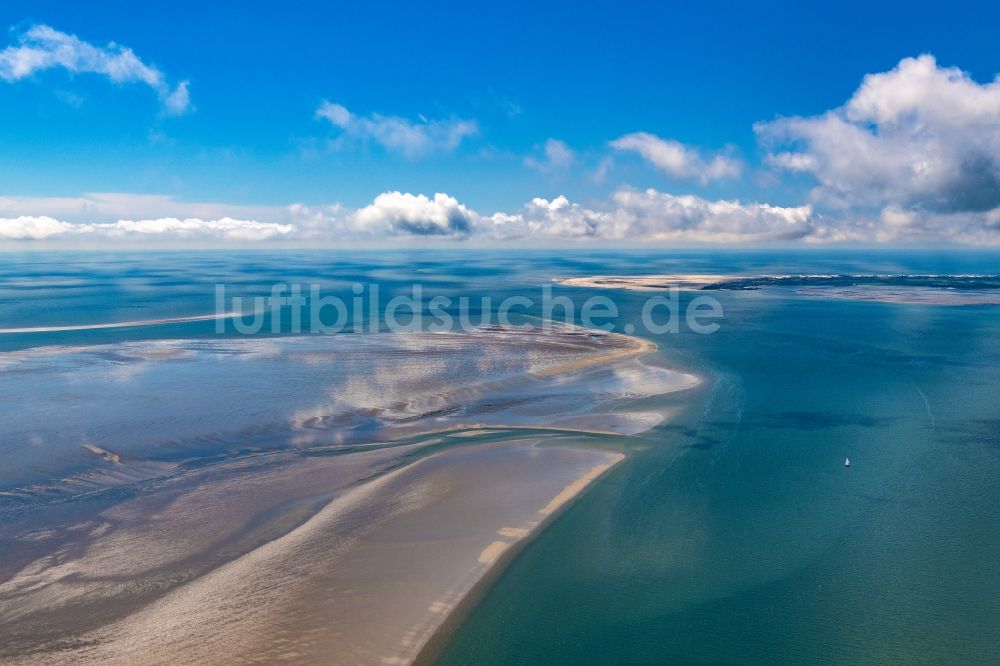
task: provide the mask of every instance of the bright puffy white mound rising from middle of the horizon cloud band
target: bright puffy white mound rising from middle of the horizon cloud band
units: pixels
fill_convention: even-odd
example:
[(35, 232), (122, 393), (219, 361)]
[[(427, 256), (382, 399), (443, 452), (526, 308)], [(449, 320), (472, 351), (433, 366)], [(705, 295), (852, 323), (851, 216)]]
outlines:
[(464, 237), (477, 217), (454, 197), (440, 192), (433, 199), (423, 194), (385, 192), (356, 211), (351, 222), (356, 230), (369, 234)]

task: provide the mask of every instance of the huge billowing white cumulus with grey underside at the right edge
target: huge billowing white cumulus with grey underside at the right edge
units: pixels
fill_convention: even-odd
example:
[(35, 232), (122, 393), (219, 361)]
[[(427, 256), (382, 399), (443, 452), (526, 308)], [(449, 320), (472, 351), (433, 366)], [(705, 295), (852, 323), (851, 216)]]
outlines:
[(1000, 206), (1000, 79), (979, 84), (930, 55), (869, 74), (840, 108), (756, 129), (770, 164), (816, 178), (819, 201), (938, 221)]

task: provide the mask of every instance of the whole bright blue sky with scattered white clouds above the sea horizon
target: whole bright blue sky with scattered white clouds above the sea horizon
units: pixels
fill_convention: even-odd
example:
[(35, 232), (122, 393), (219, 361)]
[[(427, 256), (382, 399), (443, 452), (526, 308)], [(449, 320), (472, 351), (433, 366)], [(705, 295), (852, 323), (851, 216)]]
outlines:
[[(1000, 111), (970, 112), (956, 128), (928, 100), (968, 93), (986, 100), (973, 106), (994, 104), (998, 14), (987, 3), (13, 0), (0, 7), (0, 25), (9, 28), (0, 41), (9, 55), (6, 76), (0, 65), (0, 199), (13, 200), (0, 220), (79, 225), (205, 214), (291, 225), (293, 232), (272, 235), (334, 244), (465, 240), (483, 229), (552, 242), (992, 243)], [(109, 58), (128, 49), (145, 69), (115, 80), (88, 71), (77, 53), (73, 66), (15, 72), (15, 56), (57, 48), (32, 32), (40, 26), (61, 36), (60, 48), (76, 40), (72, 48)], [(921, 54), (933, 64), (902, 67)], [(949, 87), (949, 68), (969, 85)], [(819, 119), (846, 108), (866, 75), (894, 71), (905, 80), (872, 94), (900, 101), (910, 83), (923, 85), (904, 115), (936, 134), (902, 154), (915, 125), (901, 130), (897, 117), (879, 115), (882, 102), (875, 115), (843, 112), (886, 152), (872, 169), (906, 162), (909, 171), (887, 176), (880, 196), (868, 187), (877, 176), (845, 183), (835, 165), (856, 156), (832, 154), (839, 130)], [(928, 72), (940, 80), (928, 82)], [(185, 98), (171, 97), (180, 87)], [(778, 118), (812, 124), (767, 125)], [(895, 139), (882, 140), (889, 130)], [(956, 139), (970, 151), (987, 148), (941, 148)], [(801, 159), (775, 157), (793, 153)], [(931, 164), (938, 175), (907, 180), (927, 153), (940, 162)], [(980, 167), (985, 180), (973, 177)], [(918, 189), (936, 194), (921, 198)], [(655, 196), (635, 198), (650, 190)], [(368, 222), (355, 219), (397, 192), (361, 216)], [(117, 203), (88, 199), (94, 193), (115, 193)], [(566, 203), (553, 206), (560, 196)], [(688, 196), (697, 200), (663, 198)], [(76, 204), (60, 207), (54, 198)], [(547, 205), (526, 210), (535, 199)], [(758, 207), (740, 208), (735, 219), (711, 205), (733, 201), (808, 207), (808, 215), (776, 220)], [(291, 205), (299, 212), (289, 213)], [(296, 218), (302, 207), (309, 222)], [(507, 224), (498, 212), (522, 219)], [(878, 225), (892, 233), (880, 235)], [(23, 226), (7, 237), (65, 236)]]

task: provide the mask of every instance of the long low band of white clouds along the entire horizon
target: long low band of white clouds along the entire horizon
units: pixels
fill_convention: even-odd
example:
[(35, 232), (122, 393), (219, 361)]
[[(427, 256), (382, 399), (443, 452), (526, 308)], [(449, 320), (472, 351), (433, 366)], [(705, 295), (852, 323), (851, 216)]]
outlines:
[[(232, 215), (220, 215), (223, 210)], [(146, 210), (156, 214), (143, 216)], [(168, 212), (168, 211), (173, 211)], [(32, 214), (31, 211), (35, 211)], [(228, 206), (164, 196), (101, 194), (0, 199), (5, 247), (296, 247), (424, 242), (548, 245), (893, 243), (1000, 246), (1000, 207), (939, 213), (901, 206), (832, 217), (812, 206), (705, 199), (620, 188), (586, 204), (537, 197), (513, 211), (477, 212), (457, 198), (384, 192), (340, 204)]]

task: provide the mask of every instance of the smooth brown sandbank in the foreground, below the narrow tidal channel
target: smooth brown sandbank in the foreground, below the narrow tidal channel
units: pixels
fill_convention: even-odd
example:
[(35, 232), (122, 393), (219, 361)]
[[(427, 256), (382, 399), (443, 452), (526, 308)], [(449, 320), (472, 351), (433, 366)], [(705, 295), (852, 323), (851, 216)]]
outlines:
[[(507, 548), (621, 458), (537, 440), (428, 456), (133, 614), (14, 661), (409, 663)], [(204, 506), (197, 494), (190, 501)], [(161, 516), (161, 529), (179, 534), (185, 521)], [(105, 555), (90, 558), (86, 575), (135, 581), (115, 567), (135, 561), (130, 540), (98, 539), (92, 550)]]

